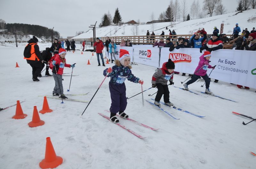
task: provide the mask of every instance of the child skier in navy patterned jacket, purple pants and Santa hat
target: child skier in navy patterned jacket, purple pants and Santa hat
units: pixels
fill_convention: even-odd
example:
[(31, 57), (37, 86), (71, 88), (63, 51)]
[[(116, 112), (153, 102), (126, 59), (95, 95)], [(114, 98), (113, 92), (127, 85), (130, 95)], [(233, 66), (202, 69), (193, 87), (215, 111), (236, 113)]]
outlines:
[(103, 71), (104, 76), (106, 76), (108, 72), (108, 77), (110, 77), (109, 91), (112, 103), (109, 111), (110, 120), (114, 123), (119, 122), (116, 117), (117, 112), (119, 112), (120, 116), (124, 119), (128, 118), (128, 115), (124, 113), (124, 110), (127, 106), (125, 93), (126, 87), (124, 84), (125, 79), (127, 78), (131, 82), (140, 83), (143, 85), (143, 80), (140, 80), (138, 77), (135, 77), (132, 74), (132, 66), (130, 66), (131, 57), (127, 50), (120, 49), (119, 60), (115, 61), (115, 66)]

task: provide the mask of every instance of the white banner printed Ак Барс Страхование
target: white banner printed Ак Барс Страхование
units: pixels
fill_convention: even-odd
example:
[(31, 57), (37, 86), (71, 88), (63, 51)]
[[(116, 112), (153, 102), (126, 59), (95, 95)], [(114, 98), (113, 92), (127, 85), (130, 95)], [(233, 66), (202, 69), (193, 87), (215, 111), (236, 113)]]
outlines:
[(211, 65), (217, 65), (211, 78), (256, 88), (256, 52), (220, 49), (212, 51)]

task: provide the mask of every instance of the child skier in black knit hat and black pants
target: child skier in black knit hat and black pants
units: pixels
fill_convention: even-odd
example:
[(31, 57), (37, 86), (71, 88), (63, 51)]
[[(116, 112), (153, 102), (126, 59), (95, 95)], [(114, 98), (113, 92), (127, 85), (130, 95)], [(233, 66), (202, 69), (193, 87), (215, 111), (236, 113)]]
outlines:
[(158, 91), (156, 93), (155, 104), (160, 106), (160, 99), (164, 94), (164, 103), (168, 106), (173, 106), (169, 100), (169, 89), (167, 82), (170, 82), (170, 85), (173, 84), (173, 73), (174, 73), (174, 62), (171, 59), (168, 62), (164, 62), (162, 68), (158, 69), (152, 77), (152, 87), (157, 87)]

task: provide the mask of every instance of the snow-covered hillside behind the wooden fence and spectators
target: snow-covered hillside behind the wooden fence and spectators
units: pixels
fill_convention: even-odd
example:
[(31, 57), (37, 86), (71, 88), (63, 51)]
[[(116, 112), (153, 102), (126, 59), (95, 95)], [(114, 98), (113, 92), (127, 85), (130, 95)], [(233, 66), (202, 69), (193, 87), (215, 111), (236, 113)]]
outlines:
[[(213, 27), (217, 26), (220, 30), (220, 24), (224, 23), (223, 33), (232, 34), (233, 28), (238, 23), (241, 28), (241, 31), (245, 28), (248, 28), (249, 31), (252, 30), (252, 27), (255, 27), (255, 22), (247, 22), (247, 20), (255, 16), (256, 17), (256, 9), (250, 9), (247, 11), (243, 11), (241, 13), (236, 14), (237, 12), (227, 13), (224, 15), (217, 15), (208, 18), (202, 19), (193, 19), (185, 22), (173, 22), (173, 27), (171, 27), (170, 22), (163, 23), (155, 23), (154, 30), (152, 28), (152, 24), (138, 24), (138, 25), (128, 25), (124, 24), (122, 26), (106, 26), (101, 28), (96, 28), (96, 36), (97, 37), (106, 37), (106, 36), (133, 36), (133, 35), (146, 35), (147, 30), (150, 33), (154, 31), (156, 35), (160, 35), (162, 31), (165, 34), (169, 34), (169, 29), (171, 31), (174, 29), (177, 34), (192, 34), (196, 32), (199, 28), (202, 29), (204, 27), (207, 33), (212, 33)], [(138, 26), (138, 34), (133, 34), (134, 29)], [(167, 26), (167, 30), (165, 27)], [(93, 35), (92, 30), (88, 30), (86, 33), (82, 33), (74, 39), (80, 38), (91, 38)]]

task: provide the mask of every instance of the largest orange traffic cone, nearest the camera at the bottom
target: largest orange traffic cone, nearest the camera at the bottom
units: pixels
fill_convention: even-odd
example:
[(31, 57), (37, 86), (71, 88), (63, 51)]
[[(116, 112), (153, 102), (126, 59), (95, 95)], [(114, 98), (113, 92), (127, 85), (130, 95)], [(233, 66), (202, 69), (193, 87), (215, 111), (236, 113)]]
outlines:
[(56, 156), (54, 148), (52, 146), (51, 138), (46, 137), (46, 148), (44, 159), (39, 163), (41, 168), (55, 168), (61, 165), (63, 159), (60, 156)]

